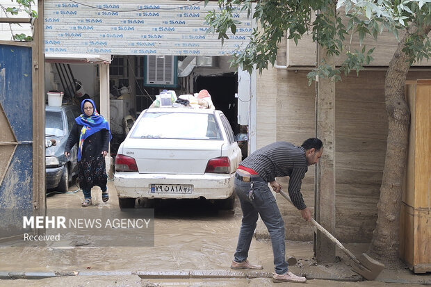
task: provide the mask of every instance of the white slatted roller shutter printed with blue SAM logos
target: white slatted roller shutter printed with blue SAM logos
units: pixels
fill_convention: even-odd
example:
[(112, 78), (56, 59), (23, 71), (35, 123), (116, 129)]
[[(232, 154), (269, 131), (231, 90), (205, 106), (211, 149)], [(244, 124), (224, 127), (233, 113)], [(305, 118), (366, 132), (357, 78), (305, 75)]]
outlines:
[(207, 34), (204, 1), (44, 1), (45, 53), (221, 56), (244, 48), (253, 24), (242, 24), (225, 44)]

